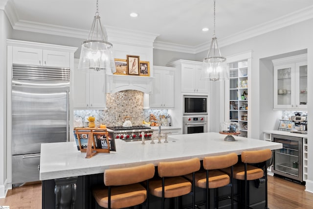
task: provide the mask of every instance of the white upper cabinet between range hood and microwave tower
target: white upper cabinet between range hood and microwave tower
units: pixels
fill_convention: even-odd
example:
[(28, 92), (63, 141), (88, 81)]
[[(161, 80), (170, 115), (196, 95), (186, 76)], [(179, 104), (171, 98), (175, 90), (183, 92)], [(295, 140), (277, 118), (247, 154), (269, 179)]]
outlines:
[(174, 108), (175, 68), (153, 67), (150, 108)]

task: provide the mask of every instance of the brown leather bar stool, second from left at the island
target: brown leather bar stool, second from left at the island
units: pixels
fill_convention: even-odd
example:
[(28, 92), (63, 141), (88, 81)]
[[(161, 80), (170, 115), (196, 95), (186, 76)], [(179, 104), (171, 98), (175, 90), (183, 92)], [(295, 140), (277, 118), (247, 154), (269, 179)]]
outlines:
[[(190, 183), (182, 176), (193, 173), (200, 169), (200, 160), (193, 158), (175, 162), (160, 162), (157, 165), (158, 176), (161, 178), (150, 181), (150, 193), (162, 198), (162, 209), (164, 209), (165, 198), (179, 197), (185, 194), (193, 195), (193, 206), (195, 205), (195, 184)], [(193, 180), (194, 183), (194, 180)]]

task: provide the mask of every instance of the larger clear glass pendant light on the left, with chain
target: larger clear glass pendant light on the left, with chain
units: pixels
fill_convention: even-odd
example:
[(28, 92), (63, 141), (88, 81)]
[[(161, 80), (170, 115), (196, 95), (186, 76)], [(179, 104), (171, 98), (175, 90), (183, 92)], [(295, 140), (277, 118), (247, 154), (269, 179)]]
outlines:
[(107, 32), (100, 21), (97, 0), (88, 39), (82, 43), (78, 69), (105, 70), (107, 74), (116, 72), (113, 45), (107, 39)]

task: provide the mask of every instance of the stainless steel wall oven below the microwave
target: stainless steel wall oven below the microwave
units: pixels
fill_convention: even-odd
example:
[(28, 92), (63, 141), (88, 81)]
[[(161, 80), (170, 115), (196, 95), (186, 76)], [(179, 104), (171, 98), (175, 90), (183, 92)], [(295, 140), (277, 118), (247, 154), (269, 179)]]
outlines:
[(206, 133), (207, 118), (207, 116), (184, 116), (182, 134)]

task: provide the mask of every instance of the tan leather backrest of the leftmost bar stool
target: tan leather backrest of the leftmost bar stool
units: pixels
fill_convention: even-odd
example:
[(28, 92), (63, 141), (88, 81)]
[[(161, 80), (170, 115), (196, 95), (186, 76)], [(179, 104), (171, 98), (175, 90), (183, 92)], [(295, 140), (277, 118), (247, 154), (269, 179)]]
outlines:
[(154, 164), (140, 165), (129, 168), (108, 169), (104, 171), (103, 180), (106, 186), (131, 185), (153, 178)]

